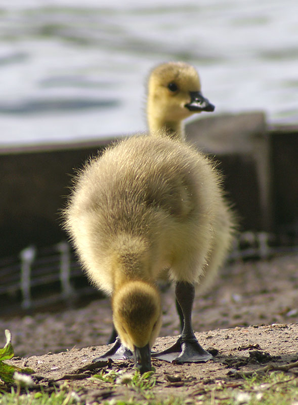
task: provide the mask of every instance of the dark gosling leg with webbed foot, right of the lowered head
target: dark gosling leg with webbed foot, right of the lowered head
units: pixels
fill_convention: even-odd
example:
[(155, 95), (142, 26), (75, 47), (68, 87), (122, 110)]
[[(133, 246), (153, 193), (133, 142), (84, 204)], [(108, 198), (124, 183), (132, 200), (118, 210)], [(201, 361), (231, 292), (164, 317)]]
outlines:
[(183, 314), (183, 330), (181, 336), (173, 346), (164, 351), (152, 354), (153, 357), (177, 364), (205, 362), (212, 358), (212, 354), (200, 346), (193, 332), (191, 312), (194, 292), (194, 286), (189, 282), (177, 282), (175, 293)]

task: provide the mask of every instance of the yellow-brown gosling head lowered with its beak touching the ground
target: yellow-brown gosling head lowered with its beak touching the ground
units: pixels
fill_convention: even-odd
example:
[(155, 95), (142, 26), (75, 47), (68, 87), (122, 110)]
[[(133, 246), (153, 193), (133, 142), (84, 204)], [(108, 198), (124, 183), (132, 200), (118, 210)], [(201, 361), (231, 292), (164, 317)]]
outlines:
[(143, 281), (127, 282), (112, 299), (114, 326), (121, 343), (134, 353), (141, 373), (151, 370), (151, 347), (161, 326), (160, 297)]

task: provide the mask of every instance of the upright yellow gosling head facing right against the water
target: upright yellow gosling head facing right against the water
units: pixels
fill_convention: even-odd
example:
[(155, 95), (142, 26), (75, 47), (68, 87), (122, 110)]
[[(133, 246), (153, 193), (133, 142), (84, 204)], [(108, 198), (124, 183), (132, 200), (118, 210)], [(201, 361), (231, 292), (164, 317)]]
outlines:
[(147, 116), (152, 132), (171, 135), (182, 131), (181, 121), (193, 113), (214, 111), (201, 93), (200, 78), (195, 68), (184, 62), (157, 66), (149, 76)]

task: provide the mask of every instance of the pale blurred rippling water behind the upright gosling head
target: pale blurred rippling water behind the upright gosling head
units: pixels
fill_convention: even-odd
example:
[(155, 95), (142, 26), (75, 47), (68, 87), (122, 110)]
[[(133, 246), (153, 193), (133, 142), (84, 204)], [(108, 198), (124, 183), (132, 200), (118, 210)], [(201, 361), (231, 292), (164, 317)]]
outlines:
[(296, 0), (0, 0), (0, 145), (145, 131), (167, 60), (198, 68), (217, 113), (298, 123), (297, 16)]

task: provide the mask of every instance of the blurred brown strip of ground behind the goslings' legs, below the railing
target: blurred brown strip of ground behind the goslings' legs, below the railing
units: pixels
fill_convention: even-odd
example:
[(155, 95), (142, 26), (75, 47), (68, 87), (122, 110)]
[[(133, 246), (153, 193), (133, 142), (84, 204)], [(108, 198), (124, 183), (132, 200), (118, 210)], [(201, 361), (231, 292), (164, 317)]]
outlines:
[[(160, 336), (180, 333), (173, 288), (162, 293)], [(249, 325), (298, 322), (298, 255), (226, 266), (205, 295), (196, 295), (193, 325), (196, 332)], [(0, 318), (0, 347), (4, 330), (13, 336), (19, 356), (56, 353), (107, 343), (111, 332), (109, 300), (97, 300), (78, 309)]]

